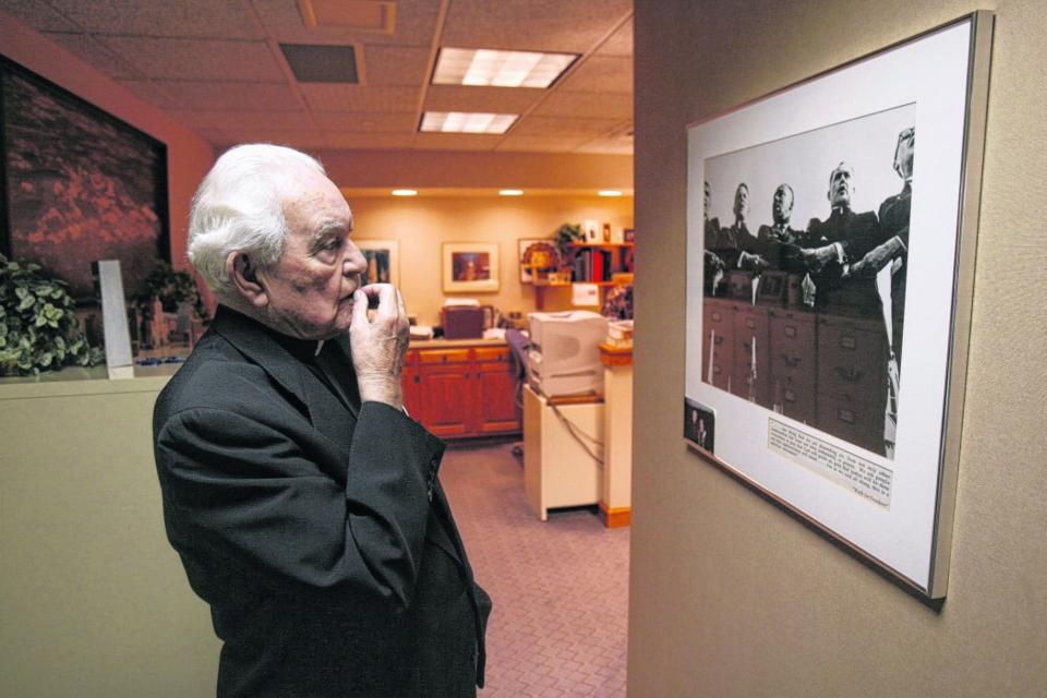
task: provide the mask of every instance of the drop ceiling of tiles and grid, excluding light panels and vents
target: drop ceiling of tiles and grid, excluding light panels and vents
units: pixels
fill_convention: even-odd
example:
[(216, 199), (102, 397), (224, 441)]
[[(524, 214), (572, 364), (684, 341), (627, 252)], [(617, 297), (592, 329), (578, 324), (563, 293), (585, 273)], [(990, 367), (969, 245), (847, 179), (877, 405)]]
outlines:
[[(266, 135), (303, 147), (631, 152), (629, 0), (397, 0), (393, 35), (310, 31), (296, 0), (0, 0), (0, 9), (219, 146)], [(289, 82), (279, 41), (352, 44), (365, 84)], [(581, 58), (547, 91), (431, 86), (433, 46)], [(522, 116), (503, 136), (422, 134), (420, 107)]]

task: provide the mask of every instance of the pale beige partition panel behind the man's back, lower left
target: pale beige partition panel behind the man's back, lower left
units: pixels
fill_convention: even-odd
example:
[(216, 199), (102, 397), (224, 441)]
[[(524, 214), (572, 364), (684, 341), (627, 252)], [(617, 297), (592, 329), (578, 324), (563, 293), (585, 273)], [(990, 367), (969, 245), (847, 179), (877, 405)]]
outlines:
[(214, 695), (153, 462), (166, 380), (0, 381), (0, 695)]

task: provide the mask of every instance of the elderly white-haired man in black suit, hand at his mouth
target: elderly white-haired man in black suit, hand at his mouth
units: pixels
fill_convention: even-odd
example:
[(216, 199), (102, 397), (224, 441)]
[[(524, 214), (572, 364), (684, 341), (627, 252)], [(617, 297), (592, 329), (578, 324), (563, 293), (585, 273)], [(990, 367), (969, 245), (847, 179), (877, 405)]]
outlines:
[[(224, 641), (220, 697), (476, 696), (490, 599), (404, 411), (404, 301), (360, 288), (313, 158), (222, 155), (189, 255), (219, 306), (154, 413), (168, 538)], [(376, 305), (369, 318), (369, 305)]]

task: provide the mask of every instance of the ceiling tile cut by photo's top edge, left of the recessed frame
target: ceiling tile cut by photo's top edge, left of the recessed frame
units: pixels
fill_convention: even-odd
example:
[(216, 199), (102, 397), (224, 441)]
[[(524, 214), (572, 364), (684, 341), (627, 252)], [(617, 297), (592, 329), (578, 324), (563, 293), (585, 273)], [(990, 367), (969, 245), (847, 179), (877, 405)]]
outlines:
[(96, 34), (262, 38), (239, 2), (215, 0), (48, 0), (59, 12)]

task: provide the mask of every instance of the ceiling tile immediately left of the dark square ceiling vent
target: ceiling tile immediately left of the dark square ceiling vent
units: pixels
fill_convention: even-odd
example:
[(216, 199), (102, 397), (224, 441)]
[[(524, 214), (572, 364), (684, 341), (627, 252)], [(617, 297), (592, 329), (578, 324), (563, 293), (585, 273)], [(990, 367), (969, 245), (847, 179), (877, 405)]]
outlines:
[(103, 37), (121, 58), (133, 61), (145, 77), (167, 80), (245, 80), (285, 82), (284, 72), (262, 41)]

